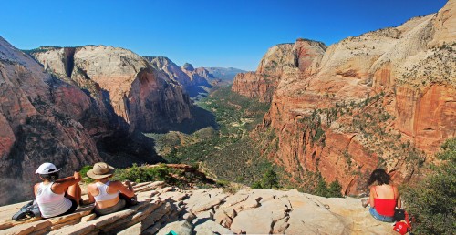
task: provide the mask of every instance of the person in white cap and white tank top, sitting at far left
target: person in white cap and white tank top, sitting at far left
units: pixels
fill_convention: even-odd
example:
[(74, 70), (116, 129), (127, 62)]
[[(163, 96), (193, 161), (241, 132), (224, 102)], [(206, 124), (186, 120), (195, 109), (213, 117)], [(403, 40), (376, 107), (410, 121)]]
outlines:
[(43, 218), (71, 214), (78, 208), (81, 199), (79, 172), (72, 177), (58, 179), (58, 171), (60, 169), (49, 162), (41, 164), (35, 171), (43, 180), (34, 187), (36, 203)]

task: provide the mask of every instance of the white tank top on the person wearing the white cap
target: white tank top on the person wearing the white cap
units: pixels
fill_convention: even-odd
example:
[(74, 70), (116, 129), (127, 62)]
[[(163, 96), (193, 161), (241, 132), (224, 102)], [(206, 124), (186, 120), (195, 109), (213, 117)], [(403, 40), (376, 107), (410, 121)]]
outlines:
[(63, 214), (72, 206), (71, 200), (65, 198), (65, 193), (57, 194), (51, 190), (53, 184), (40, 183), (36, 191), (36, 202), (44, 218)]

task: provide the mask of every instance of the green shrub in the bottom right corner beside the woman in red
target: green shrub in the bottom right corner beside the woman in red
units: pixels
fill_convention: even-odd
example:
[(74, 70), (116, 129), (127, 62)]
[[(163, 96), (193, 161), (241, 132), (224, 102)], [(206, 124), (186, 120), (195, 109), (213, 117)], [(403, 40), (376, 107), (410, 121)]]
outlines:
[(414, 216), (414, 230), (419, 234), (452, 234), (456, 208), (456, 138), (442, 145), (437, 158), (445, 160), (432, 166), (432, 172), (417, 185), (403, 189), (402, 198)]

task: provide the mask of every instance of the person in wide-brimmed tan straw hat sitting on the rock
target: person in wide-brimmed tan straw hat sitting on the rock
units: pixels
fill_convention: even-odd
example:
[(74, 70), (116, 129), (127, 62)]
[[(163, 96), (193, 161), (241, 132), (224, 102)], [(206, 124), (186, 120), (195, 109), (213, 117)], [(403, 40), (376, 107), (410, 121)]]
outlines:
[[(95, 183), (89, 184), (88, 201), (95, 202), (95, 213), (106, 215), (125, 208), (127, 200), (135, 197), (130, 181), (110, 181), (115, 169), (104, 162), (98, 162), (93, 169), (88, 170), (87, 175), (95, 179)], [(120, 197), (119, 197), (120, 196)]]

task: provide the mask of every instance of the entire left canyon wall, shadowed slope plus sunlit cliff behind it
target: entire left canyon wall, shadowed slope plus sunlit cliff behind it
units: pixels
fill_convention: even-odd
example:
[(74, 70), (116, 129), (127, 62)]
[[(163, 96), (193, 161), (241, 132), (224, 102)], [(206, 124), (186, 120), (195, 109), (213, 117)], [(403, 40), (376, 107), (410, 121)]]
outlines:
[(129, 50), (27, 53), (0, 37), (0, 204), (31, 198), (39, 180), (33, 172), (46, 161), (62, 176), (102, 160), (115, 167), (158, 162), (140, 131), (166, 131), (192, 117), (181, 84)]

